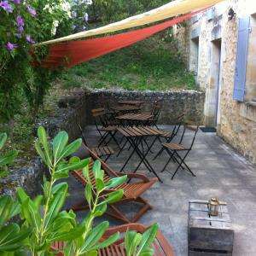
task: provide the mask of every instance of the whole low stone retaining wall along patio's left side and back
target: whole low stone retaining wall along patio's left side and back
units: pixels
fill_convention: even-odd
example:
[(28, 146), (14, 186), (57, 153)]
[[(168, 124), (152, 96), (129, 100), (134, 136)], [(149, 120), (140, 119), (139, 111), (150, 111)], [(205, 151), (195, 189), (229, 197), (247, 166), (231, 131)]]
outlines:
[[(55, 114), (42, 120), (38, 125), (44, 125), (49, 137), (55, 137), (58, 131), (67, 131), (70, 141), (80, 136), (79, 126), (92, 125), (93, 119), (90, 113), (92, 108), (100, 108), (107, 102), (112, 105), (119, 100), (134, 99), (143, 100), (143, 111), (150, 112), (153, 102), (162, 102), (160, 124), (172, 124), (172, 121), (181, 113), (184, 119), (201, 121), (204, 94), (198, 91), (180, 92), (151, 92), (151, 91), (125, 91), (125, 90), (95, 90), (77, 91), (71, 96), (62, 96), (55, 108)], [(0, 195), (14, 194), (15, 189), (22, 186), (29, 195), (38, 194), (41, 191), (41, 183), (46, 168), (42, 161), (35, 156), (22, 168), (10, 170), (11, 175), (0, 180)]]

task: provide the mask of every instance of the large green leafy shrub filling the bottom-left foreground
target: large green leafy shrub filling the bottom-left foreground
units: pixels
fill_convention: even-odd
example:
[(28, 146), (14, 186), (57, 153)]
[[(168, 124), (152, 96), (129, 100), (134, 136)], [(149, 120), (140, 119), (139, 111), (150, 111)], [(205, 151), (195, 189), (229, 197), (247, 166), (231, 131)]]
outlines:
[[(10, 195), (0, 197), (0, 254), (1, 255), (55, 255), (58, 251), (52, 247), (55, 241), (64, 241), (61, 248), (65, 256), (97, 255), (97, 250), (108, 247), (119, 238), (119, 233), (102, 239), (108, 229), (108, 222), (93, 225), (94, 219), (106, 212), (108, 204), (119, 201), (123, 196), (122, 189), (113, 189), (125, 182), (126, 176), (113, 177), (104, 181), (101, 162), (96, 160), (89, 169), (90, 159), (80, 160), (73, 156), (67, 160), (81, 145), (81, 139), (68, 144), (66, 131), (60, 131), (49, 143), (44, 127), (38, 128), (38, 139), (35, 147), (49, 170), (49, 180), (44, 177), (43, 195), (35, 198), (26, 195), (24, 189), (17, 189), (17, 201)], [(79, 223), (75, 213), (61, 211), (67, 198), (67, 178), (73, 170), (82, 169), (87, 186), (84, 196), (89, 212)], [(96, 184), (96, 185), (93, 185)], [(111, 191), (113, 189), (113, 191)], [(85, 200), (84, 200), (85, 201)], [(20, 216), (20, 223), (10, 223), (11, 218)], [(127, 233), (125, 246), (127, 255), (152, 255), (149, 248), (158, 230), (153, 225), (143, 235)], [(135, 239), (136, 238), (136, 239)], [(135, 239), (135, 240), (134, 240)]]

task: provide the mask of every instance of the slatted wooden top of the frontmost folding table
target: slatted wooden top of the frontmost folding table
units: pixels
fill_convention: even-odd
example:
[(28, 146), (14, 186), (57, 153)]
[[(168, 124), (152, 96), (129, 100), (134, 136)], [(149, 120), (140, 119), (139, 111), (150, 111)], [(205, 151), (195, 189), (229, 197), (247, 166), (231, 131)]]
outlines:
[(163, 133), (163, 131), (150, 126), (119, 127), (118, 131), (125, 137), (159, 136)]

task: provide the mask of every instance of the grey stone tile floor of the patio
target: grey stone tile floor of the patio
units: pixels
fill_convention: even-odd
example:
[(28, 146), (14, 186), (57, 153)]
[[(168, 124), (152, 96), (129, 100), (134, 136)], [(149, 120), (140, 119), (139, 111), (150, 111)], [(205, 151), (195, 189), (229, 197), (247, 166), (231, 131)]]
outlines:
[[(161, 129), (170, 131), (171, 126), (160, 126)], [(99, 138), (94, 126), (87, 126), (84, 135), (90, 146), (96, 145)], [(189, 143), (189, 137), (185, 140)], [(113, 148), (117, 147), (112, 144)], [(160, 143), (154, 144), (154, 154), (160, 149)], [(108, 165), (119, 171), (129, 151), (124, 150), (117, 158), (112, 156)], [(152, 160), (154, 154), (149, 155), (150, 163), (154, 170), (160, 173), (168, 156), (162, 154), (157, 160)], [(256, 256), (256, 167), (237, 154), (222, 139), (214, 133), (199, 131), (195, 139), (195, 145), (190, 152), (187, 164), (195, 172), (192, 177), (189, 172), (183, 170), (177, 172), (171, 180), (168, 172), (160, 173), (164, 183), (155, 183), (143, 197), (146, 198), (153, 209), (146, 212), (139, 222), (152, 224), (158, 222), (160, 229), (172, 244), (177, 256), (188, 254), (188, 207), (189, 200), (208, 200), (212, 196), (218, 196), (221, 201), (228, 203), (230, 218), (235, 230), (234, 253), (235, 256)], [(129, 172), (137, 164), (135, 156), (125, 168)], [(175, 165), (170, 164), (168, 170), (173, 172)], [(151, 173), (140, 167), (139, 173), (151, 177)], [(73, 178), (69, 178), (70, 198), (68, 205), (80, 201), (84, 196), (83, 187)], [(67, 207), (69, 207), (67, 205)], [(133, 214), (136, 208), (134, 204), (124, 206), (129, 214)], [(79, 212), (78, 217), (84, 216), (85, 212)], [(108, 218), (108, 217), (105, 217)], [(108, 218), (110, 224), (121, 224)]]

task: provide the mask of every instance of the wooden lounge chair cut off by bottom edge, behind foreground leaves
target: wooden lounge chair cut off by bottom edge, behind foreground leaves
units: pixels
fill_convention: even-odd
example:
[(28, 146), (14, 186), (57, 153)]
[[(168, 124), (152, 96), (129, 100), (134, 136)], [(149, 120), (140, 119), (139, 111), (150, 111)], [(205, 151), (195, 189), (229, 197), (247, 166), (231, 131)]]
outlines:
[[(125, 245), (124, 245), (124, 233), (127, 231), (136, 231), (138, 233), (143, 234), (147, 228), (143, 226), (142, 224), (124, 224), (117, 227), (113, 227), (111, 229), (108, 229), (106, 233), (104, 234), (102, 240), (108, 239), (109, 236), (112, 236), (116, 232), (121, 233), (121, 238), (119, 238), (118, 241), (115, 241), (113, 245), (106, 247), (104, 249), (98, 250), (98, 255), (102, 256), (113, 256), (113, 255), (119, 255), (119, 256), (125, 256)], [(53, 251), (61, 251), (61, 249), (65, 246), (65, 243), (62, 241), (55, 241), (55, 243), (52, 245)], [(174, 252), (172, 249), (172, 246), (170, 243), (166, 240), (166, 237), (161, 233), (161, 231), (158, 231), (153, 244), (151, 246), (154, 250), (155, 256), (174, 256)], [(57, 256), (62, 256), (63, 253), (56, 253)]]

